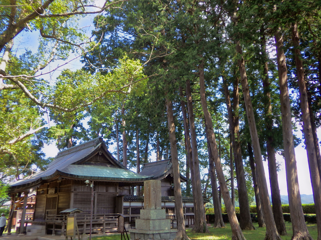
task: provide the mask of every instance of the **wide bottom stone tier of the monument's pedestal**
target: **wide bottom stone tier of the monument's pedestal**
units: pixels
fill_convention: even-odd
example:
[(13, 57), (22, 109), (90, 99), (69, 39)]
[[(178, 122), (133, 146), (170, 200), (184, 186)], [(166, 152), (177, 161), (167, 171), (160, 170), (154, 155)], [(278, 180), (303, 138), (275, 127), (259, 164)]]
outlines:
[(129, 229), (130, 240), (173, 240), (177, 229), (168, 230), (138, 230)]

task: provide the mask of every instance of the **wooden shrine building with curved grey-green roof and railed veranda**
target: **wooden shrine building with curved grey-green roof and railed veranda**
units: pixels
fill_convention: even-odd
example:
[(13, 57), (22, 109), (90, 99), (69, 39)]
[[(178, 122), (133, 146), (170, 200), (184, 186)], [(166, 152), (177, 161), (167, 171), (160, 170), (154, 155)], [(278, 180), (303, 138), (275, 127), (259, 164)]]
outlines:
[[(35, 192), (36, 203), (33, 216), (25, 220), (26, 201), (23, 202), (20, 225), (45, 225), (47, 234), (65, 233), (66, 216), (61, 211), (78, 208), (83, 212), (77, 214), (78, 228), (81, 233), (89, 233), (91, 187), (86, 180), (93, 182), (93, 225), (92, 232), (111, 232), (116, 230), (117, 216), (126, 216), (127, 228), (135, 219), (139, 218), (137, 209), (143, 208), (143, 197), (134, 196), (135, 186), (143, 186), (143, 181), (161, 180), (164, 208), (173, 203), (172, 164), (170, 159), (147, 163), (141, 173), (126, 169), (108, 151), (102, 138), (76, 145), (60, 151), (54, 161), (48, 164), (45, 171), (39, 171), (28, 178), (11, 183), (9, 194), (12, 203), (20, 200), (21, 193)], [(186, 178), (181, 175), (181, 181)], [(135, 200), (133, 200), (135, 198)], [(165, 199), (165, 198), (164, 198)], [(183, 198), (185, 213), (193, 215), (192, 198)], [(135, 205), (139, 205), (135, 209)], [(14, 209), (14, 206), (11, 207)], [(168, 218), (172, 218), (175, 210), (167, 211)], [(132, 214), (134, 213), (134, 214)], [(187, 224), (191, 218), (186, 218)], [(9, 223), (10, 226), (10, 223)], [(17, 224), (16, 224), (17, 226)], [(23, 229), (23, 228), (22, 228)], [(23, 232), (19, 229), (20, 233)], [(31, 235), (31, 233), (27, 235)]]

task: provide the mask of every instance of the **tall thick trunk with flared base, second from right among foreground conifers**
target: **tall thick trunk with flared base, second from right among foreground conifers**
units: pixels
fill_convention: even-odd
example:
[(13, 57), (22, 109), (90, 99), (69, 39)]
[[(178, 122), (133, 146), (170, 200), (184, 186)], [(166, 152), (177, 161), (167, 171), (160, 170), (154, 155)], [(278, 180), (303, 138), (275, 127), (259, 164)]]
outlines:
[(289, 195), (291, 223), (293, 228), (292, 239), (312, 239), (308, 232), (307, 226), (305, 225), (299, 191), (298, 173), (292, 133), (290, 96), (287, 76), (288, 71), (286, 68), (286, 60), (283, 51), (283, 37), (280, 33), (280, 30), (276, 32), (274, 40), (280, 84), (285, 171)]

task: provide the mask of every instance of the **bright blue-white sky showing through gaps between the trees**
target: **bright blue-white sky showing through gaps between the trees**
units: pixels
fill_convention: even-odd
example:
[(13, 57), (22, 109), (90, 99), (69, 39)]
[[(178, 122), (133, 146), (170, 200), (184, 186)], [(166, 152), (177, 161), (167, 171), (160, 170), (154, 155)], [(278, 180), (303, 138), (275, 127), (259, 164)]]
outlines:
[[(93, 29), (92, 26), (92, 20), (94, 18), (94, 15), (89, 15), (85, 18), (82, 18), (79, 21), (79, 25), (81, 27), (85, 27), (85, 30), (87, 31), (87, 36), (91, 36), (91, 30)], [(17, 38), (15, 38), (14, 47), (16, 49), (17, 55), (20, 55), (25, 51), (26, 48), (32, 50), (33, 52), (37, 51), (38, 47), (38, 32), (22, 32)], [(69, 60), (73, 59), (74, 55), (69, 57)], [(47, 68), (43, 70), (43, 72), (47, 72), (53, 68), (56, 68), (57, 66), (61, 66), (64, 62), (62, 61), (56, 61), (54, 63), (51, 63)], [(56, 76), (60, 74), (60, 72), (65, 68), (70, 68), (72, 70), (80, 69), (82, 67), (82, 64), (79, 62), (79, 59), (71, 60), (71, 62), (65, 66), (63, 66), (61, 69), (55, 71), (50, 76), (44, 76), (45, 79), (55, 79)], [(45, 117), (47, 120), (47, 118)], [(50, 123), (52, 125), (53, 123)], [(86, 124), (86, 123), (84, 123)], [(299, 131), (295, 134), (297, 137), (302, 138), (301, 133), (301, 127), (298, 126)], [(321, 137), (321, 129), (318, 129), (318, 138)], [(115, 148), (115, 146), (111, 145), (111, 148)], [(111, 150), (112, 151), (112, 150)], [(47, 157), (54, 157), (56, 156), (58, 149), (55, 146), (55, 143), (52, 143), (50, 145), (47, 145), (43, 148), (43, 152), (46, 154)], [(308, 168), (308, 160), (307, 160), (307, 152), (303, 146), (302, 143), (295, 148), (295, 154), (296, 154), (296, 160), (297, 160), (297, 170), (298, 170), (298, 179), (299, 179), (299, 187), (300, 187), (300, 194), (312, 194), (312, 187), (311, 187), (311, 181), (310, 181), (310, 174), (309, 174), (309, 168)], [(152, 158), (155, 158), (155, 154), (152, 154)], [(153, 159), (152, 159), (153, 160)], [(287, 194), (287, 185), (286, 185), (286, 175), (285, 175), (285, 163), (282, 156), (277, 155), (276, 156), (277, 162), (280, 164), (280, 171), (278, 172), (278, 181), (279, 181), (279, 187), (280, 187), (280, 193), (281, 195), (288, 195)], [(269, 184), (269, 173), (268, 173), (268, 166), (267, 162), (264, 161), (264, 168), (265, 168), (265, 176), (267, 180), (267, 185), (270, 191), (270, 184)]]

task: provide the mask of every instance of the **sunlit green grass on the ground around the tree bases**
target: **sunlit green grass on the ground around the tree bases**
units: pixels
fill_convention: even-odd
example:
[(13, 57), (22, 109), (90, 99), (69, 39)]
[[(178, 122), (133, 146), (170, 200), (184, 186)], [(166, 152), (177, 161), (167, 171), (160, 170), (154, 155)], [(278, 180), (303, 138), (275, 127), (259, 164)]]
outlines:
[[(243, 231), (243, 234), (247, 240), (263, 240), (265, 237), (265, 228), (258, 228), (257, 223), (254, 223), (254, 226), (257, 230), (253, 231)], [(317, 225), (316, 224), (307, 224), (310, 235), (313, 239), (317, 239)], [(231, 239), (232, 231), (230, 224), (226, 224), (226, 228), (212, 228), (209, 227), (211, 233), (194, 233), (191, 229), (187, 229), (187, 236), (191, 239), (198, 240), (226, 240)], [(286, 223), (286, 230), (288, 232), (287, 236), (282, 236), (283, 240), (291, 240), (292, 236), (292, 226), (291, 223)], [(101, 236), (96, 237), (94, 240), (120, 240), (120, 235), (111, 235), (111, 236)]]

